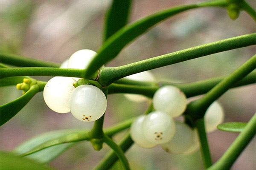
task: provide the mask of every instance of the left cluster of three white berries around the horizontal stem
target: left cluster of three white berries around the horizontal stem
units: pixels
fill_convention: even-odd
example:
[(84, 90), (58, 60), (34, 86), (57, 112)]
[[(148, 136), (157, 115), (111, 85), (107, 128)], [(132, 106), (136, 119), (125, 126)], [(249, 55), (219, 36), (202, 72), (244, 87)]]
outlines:
[[(64, 61), (61, 68), (87, 68), (96, 54), (92, 50), (79, 50)], [(76, 119), (81, 121), (95, 121), (106, 111), (106, 96), (93, 85), (80, 85), (75, 88), (73, 83), (78, 79), (76, 77), (53, 77), (44, 87), (44, 101), (52, 111), (71, 112)]]

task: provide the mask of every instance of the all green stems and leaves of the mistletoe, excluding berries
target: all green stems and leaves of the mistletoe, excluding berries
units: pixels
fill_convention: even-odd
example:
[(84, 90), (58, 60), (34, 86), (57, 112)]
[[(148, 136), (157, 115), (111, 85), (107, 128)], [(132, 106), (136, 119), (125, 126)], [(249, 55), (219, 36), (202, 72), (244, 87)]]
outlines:
[[(148, 31), (157, 23), (160, 23), (163, 20), (183, 11), (208, 6), (227, 8), (227, 12), (232, 19), (236, 19), (239, 16), (240, 10), (244, 10), (250, 14), (254, 20), (256, 20), (256, 12), (244, 0), (211, 0), (159, 11), (125, 26), (128, 22), (131, 0), (113, 0), (105, 21), (105, 32), (103, 37), (105, 42), (99, 49), (98, 55), (90, 63), (88, 69), (58, 68), (60, 65), (56, 63), (1, 53), (0, 59), (2, 63), (28, 68), (7, 68), (5, 65), (0, 64), (0, 86), (15, 85), (22, 82), (24, 78), (26, 79), (25, 81), (29, 83), (24, 81), (25, 84), (17, 85), (18, 89), (22, 89), (26, 92), (23, 96), (0, 106), (0, 125), (3, 125), (15, 116), (35, 94), (39, 91), (43, 91), (46, 82), (31, 79), (30, 77), (27, 77), (29, 75), (93, 78), (93, 80), (80, 79), (77, 84), (80, 82), (82, 84), (96, 82), (97, 86), (104, 92), (105, 96), (114, 93), (132, 93), (152, 97), (158, 88), (163, 85), (169, 85), (170, 83), (139, 82), (121, 78), (177, 62), (183, 62), (221, 51), (256, 44), (256, 34), (247, 34), (188, 48), (171, 54), (153, 57), (151, 59), (145, 59), (128, 65), (115, 68), (100, 68), (103, 64), (115, 58), (122, 48), (141, 34)], [(20, 11), (17, 11), (17, 13), (19, 12)], [(29, 13), (30, 11), (25, 15), (24, 19), (29, 16)], [(21, 19), (23, 20), (23, 18)], [(17, 21), (18, 20), (14, 20), (14, 22)], [(186, 118), (186, 123), (198, 130), (204, 164), (205, 167), (210, 170), (229, 169), (256, 133), (256, 115), (254, 115), (248, 123), (232, 122), (218, 125), (218, 129), (220, 130), (241, 133), (227, 152), (224, 153), (221, 159), (212, 165), (207, 135), (204, 128), (204, 113), (213, 101), (218, 99), (230, 88), (255, 83), (256, 71), (253, 71), (256, 68), (255, 63), (256, 55), (251, 57), (247, 62), (227, 77), (219, 77), (187, 84), (176, 84), (176, 86), (189, 97), (206, 94), (202, 98), (189, 103), (184, 116)], [(99, 68), (99, 73), (96, 73)], [(24, 85), (23, 88), (21, 87), (22, 85)], [(152, 111), (152, 105), (148, 108), (146, 113), (149, 111)], [(115, 133), (128, 128), (133, 120), (134, 118), (131, 118), (103, 130), (104, 116), (102, 116), (95, 122), (92, 130), (58, 130), (36, 136), (23, 144), (20, 144), (20, 146), (13, 150), (13, 153), (18, 154), (19, 157), (10, 153), (0, 153), (1, 169), (51, 170), (48, 167), (43, 167), (41, 163), (48, 163), (52, 161), (65, 150), (76, 144), (76, 142), (87, 140), (92, 142), (95, 150), (100, 150), (103, 142), (108, 144), (112, 149), (111, 152), (109, 152), (102, 161), (99, 162), (95, 167), (95, 170), (109, 169), (117, 159), (120, 160), (126, 170), (129, 170), (128, 160), (124, 155), (124, 152), (133, 144), (129, 133), (125, 135), (119, 144), (116, 144), (110, 137)], [(33, 161), (20, 158), (20, 156), (33, 159)]]

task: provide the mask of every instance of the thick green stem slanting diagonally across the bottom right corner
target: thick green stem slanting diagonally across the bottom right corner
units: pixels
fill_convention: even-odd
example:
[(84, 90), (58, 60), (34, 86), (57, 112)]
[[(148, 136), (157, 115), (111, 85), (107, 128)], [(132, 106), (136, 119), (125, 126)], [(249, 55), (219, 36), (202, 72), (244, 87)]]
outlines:
[(253, 139), (256, 133), (256, 114), (250, 119), (244, 130), (239, 134), (236, 140), (231, 144), (227, 151), (221, 156), (221, 158), (209, 167), (207, 170), (229, 170), (238, 156)]

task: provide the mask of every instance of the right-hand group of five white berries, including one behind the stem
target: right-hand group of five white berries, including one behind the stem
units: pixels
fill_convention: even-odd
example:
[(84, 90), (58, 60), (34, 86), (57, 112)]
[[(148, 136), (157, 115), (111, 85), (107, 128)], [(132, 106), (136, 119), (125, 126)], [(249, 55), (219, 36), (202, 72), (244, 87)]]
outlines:
[[(138, 117), (131, 125), (131, 138), (140, 147), (151, 148), (160, 144), (168, 153), (188, 154), (199, 147), (195, 130), (183, 122), (174, 120), (186, 110), (185, 94), (175, 86), (159, 88), (153, 96), (156, 111)], [(223, 121), (224, 112), (218, 102), (214, 102), (205, 115), (207, 132), (216, 129)]]

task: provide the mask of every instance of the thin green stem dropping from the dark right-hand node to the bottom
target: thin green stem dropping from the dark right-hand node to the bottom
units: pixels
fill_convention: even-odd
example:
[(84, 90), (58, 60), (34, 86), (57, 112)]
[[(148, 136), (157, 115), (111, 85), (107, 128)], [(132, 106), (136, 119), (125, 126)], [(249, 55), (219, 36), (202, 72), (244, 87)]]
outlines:
[(198, 135), (201, 143), (201, 153), (204, 160), (204, 167), (208, 168), (212, 165), (212, 159), (211, 159), (211, 154), (210, 154), (209, 145), (207, 141), (207, 135), (204, 127), (204, 118), (198, 119), (195, 124), (198, 130)]

